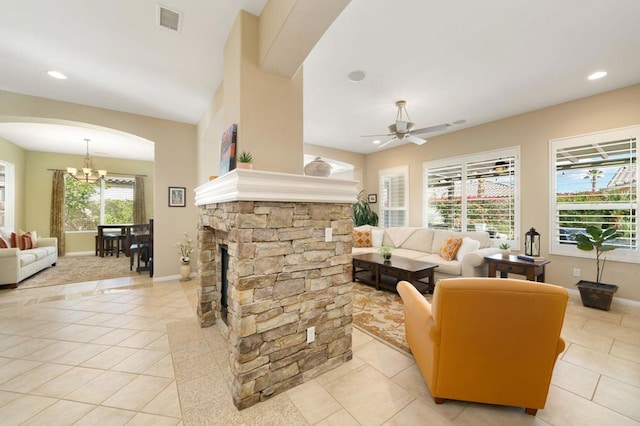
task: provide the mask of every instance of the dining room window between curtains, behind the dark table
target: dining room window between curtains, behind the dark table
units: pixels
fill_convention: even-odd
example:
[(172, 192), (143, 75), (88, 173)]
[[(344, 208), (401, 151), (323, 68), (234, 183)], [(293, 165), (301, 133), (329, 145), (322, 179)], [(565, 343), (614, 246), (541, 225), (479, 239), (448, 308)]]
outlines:
[(98, 225), (133, 223), (131, 178), (91, 183), (65, 177), (65, 231), (95, 231)]

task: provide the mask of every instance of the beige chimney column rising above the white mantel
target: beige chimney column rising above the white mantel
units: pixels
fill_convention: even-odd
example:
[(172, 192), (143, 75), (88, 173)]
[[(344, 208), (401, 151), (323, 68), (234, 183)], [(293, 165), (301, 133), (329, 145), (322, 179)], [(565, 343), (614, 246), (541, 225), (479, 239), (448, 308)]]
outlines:
[(302, 70), (290, 79), (259, 67), (258, 22), (241, 11), (225, 44), (224, 128), (238, 124), (254, 168), (302, 173)]

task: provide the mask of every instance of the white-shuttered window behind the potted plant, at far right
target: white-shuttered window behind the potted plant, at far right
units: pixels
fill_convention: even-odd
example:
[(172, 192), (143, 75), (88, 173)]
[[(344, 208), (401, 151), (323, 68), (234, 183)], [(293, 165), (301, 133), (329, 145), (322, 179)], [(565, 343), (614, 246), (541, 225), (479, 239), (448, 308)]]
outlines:
[(621, 250), (607, 258), (638, 261), (636, 160), (640, 126), (550, 141), (551, 253), (592, 256), (578, 250), (574, 236), (587, 226), (615, 226)]

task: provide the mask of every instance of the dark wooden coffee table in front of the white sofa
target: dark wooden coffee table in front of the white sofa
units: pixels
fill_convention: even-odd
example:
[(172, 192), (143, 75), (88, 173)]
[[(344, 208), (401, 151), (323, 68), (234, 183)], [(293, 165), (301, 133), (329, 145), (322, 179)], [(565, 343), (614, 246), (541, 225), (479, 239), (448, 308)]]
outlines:
[(405, 280), (413, 284), (421, 293), (433, 292), (435, 280), (433, 271), (438, 267), (433, 263), (420, 262), (406, 257), (392, 256), (386, 261), (375, 253), (353, 255), (352, 280), (375, 285), (387, 290), (396, 290), (396, 284)]

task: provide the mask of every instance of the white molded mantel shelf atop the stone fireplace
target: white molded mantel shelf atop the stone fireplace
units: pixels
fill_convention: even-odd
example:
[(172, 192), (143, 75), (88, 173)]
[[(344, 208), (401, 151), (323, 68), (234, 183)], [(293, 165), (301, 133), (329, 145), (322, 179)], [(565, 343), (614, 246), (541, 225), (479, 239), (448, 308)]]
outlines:
[(326, 177), (234, 169), (195, 189), (196, 205), (232, 201), (353, 203), (358, 182)]

